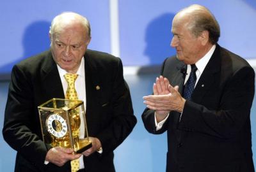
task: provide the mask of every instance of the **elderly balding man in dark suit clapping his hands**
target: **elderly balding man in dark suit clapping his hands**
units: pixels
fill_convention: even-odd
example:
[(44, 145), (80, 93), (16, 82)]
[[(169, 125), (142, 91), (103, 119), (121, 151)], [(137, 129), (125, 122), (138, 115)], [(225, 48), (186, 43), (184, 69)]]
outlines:
[(164, 61), (142, 115), (148, 132), (167, 131), (166, 171), (254, 171), (253, 68), (218, 45), (220, 27), (204, 6), (179, 11), (172, 33), (177, 58)]

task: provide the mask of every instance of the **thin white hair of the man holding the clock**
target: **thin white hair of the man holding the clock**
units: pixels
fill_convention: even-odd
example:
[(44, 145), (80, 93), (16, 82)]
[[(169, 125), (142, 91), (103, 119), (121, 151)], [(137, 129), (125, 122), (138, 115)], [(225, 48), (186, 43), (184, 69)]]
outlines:
[(87, 20), (86, 17), (83, 17), (82, 15), (79, 15), (73, 12), (63, 12), (60, 15), (57, 15), (56, 17), (54, 17), (51, 22), (49, 34), (51, 34), (52, 36), (56, 31), (56, 27), (58, 27), (63, 23), (68, 24), (68, 22), (70, 22), (71, 20), (76, 20), (77, 22), (80, 22), (84, 26), (84, 28), (88, 31), (89, 38), (91, 37), (90, 22)]

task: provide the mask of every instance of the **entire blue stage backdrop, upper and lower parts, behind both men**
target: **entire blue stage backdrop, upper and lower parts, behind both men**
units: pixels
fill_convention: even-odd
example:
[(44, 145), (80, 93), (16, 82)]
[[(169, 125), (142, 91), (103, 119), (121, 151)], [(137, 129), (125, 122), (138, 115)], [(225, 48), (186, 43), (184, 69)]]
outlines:
[[(124, 66), (159, 65), (165, 57), (175, 54), (170, 48), (172, 18), (181, 8), (195, 3), (214, 13), (221, 27), (219, 43), (222, 47), (246, 59), (255, 59), (255, 0), (2, 0), (0, 80), (8, 78), (13, 64), (49, 48), (51, 20), (62, 11), (75, 11), (90, 20), (92, 41), (89, 48), (120, 56)], [(165, 169), (166, 134), (148, 134), (141, 122), (145, 108), (142, 96), (151, 94), (154, 77), (125, 76), (131, 87), (138, 124), (115, 151), (116, 171)], [(1, 127), (7, 87), (8, 82), (0, 83)], [(252, 118), (253, 151), (256, 154), (255, 113)], [(0, 171), (13, 171), (15, 151), (6, 145), (2, 135), (0, 150)]]

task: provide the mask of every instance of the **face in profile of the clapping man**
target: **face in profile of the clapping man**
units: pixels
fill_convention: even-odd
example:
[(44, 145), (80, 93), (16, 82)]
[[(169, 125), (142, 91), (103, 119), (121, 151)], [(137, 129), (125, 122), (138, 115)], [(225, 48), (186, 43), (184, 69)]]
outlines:
[(186, 64), (195, 64), (204, 49), (200, 36), (194, 36), (188, 29), (189, 18), (176, 16), (173, 18), (171, 46), (176, 49), (177, 58)]

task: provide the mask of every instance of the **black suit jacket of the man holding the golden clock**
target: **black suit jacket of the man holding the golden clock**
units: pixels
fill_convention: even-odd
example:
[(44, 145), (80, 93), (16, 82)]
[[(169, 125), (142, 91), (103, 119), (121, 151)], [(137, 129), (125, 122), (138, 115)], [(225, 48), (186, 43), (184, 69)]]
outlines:
[[(115, 171), (113, 150), (136, 124), (122, 62), (112, 55), (87, 50), (84, 67), (88, 133), (99, 138), (103, 148), (101, 155), (95, 152), (84, 157), (84, 166), (86, 172)], [(51, 147), (42, 141), (37, 106), (52, 97), (64, 98), (65, 94), (51, 51), (13, 67), (3, 136), (17, 150), (15, 171), (70, 171), (69, 162), (61, 168), (51, 163), (44, 165)]]

